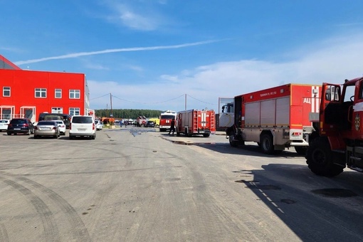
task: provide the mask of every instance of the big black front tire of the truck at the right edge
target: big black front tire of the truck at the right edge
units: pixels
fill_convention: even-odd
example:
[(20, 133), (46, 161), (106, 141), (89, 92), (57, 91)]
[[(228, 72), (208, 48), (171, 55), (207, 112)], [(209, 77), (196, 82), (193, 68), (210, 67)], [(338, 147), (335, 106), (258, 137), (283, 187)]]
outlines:
[(306, 152), (306, 163), (309, 169), (318, 176), (335, 177), (343, 172), (341, 167), (332, 162), (332, 150), (326, 137), (318, 137), (310, 143)]

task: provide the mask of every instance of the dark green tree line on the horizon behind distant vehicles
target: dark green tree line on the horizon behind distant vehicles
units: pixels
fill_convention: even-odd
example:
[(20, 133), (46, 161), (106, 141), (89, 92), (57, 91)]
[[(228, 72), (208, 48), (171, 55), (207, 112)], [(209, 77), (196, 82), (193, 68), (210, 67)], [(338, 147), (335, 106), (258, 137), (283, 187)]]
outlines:
[[(137, 109), (114, 109), (112, 110), (112, 116), (114, 118), (127, 118), (135, 120), (139, 116), (145, 117), (159, 117), (162, 110), (137, 110)], [(111, 110), (100, 109), (95, 110), (95, 115), (97, 117), (110, 117)]]

